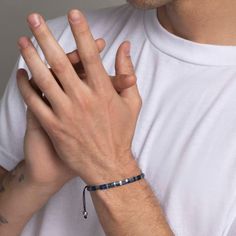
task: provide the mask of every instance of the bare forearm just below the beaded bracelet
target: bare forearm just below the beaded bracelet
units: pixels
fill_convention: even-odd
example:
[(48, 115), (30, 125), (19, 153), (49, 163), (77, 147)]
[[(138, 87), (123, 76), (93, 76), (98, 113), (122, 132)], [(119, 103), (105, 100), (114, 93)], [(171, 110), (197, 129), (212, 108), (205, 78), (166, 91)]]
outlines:
[[(137, 175), (138, 170), (130, 172)], [(129, 171), (124, 171), (127, 176)], [(173, 235), (145, 179), (108, 190), (97, 190), (91, 192), (91, 197), (106, 235)]]

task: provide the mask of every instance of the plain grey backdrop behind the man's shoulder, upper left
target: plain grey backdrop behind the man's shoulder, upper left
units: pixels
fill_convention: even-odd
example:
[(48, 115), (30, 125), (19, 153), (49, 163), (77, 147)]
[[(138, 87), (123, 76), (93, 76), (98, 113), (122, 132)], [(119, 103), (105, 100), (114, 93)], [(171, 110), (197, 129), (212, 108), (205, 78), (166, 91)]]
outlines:
[(125, 0), (0, 0), (0, 98), (19, 56), (17, 39), (31, 36), (26, 17), (39, 12), (46, 19), (66, 15), (71, 8), (98, 9), (125, 3)]

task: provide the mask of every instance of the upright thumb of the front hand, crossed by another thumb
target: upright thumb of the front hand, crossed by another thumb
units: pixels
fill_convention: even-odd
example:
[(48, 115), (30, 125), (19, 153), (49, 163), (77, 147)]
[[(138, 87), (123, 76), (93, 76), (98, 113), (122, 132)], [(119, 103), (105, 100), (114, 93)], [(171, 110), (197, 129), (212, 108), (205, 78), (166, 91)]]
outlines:
[(130, 56), (130, 42), (125, 41), (123, 42), (117, 50), (116, 54), (116, 63), (115, 63), (115, 70), (116, 75), (127, 75), (132, 76), (135, 80), (133, 86), (124, 89), (121, 91), (120, 96), (124, 98), (128, 98), (130, 101), (137, 101), (140, 100), (141, 97), (139, 95), (138, 87), (137, 87), (137, 78), (134, 71), (134, 66)]

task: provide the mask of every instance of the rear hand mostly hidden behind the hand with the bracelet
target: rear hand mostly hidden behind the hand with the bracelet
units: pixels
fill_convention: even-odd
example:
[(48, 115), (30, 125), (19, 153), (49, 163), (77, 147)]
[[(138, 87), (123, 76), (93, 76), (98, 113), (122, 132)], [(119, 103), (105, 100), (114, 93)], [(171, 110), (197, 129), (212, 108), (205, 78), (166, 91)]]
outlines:
[[(105, 47), (105, 41), (103, 39), (96, 40), (96, 45), (99, 52), (102, 52)], [(67, 54), (68, 59), (75, 68), (78, 76), (84, 77), (84, 68), (81, 64), (77, 51)], [(53, 73), (53, 71), (51, 71)], [(22, 73), (22, 72), (21, 72)], [(24, 77), (28, 78), (28, 75), (23, 71)], [(56, 80), (55, 74), (53, 73)], [(121, 92), (133, 86), (135, 80), (131, 80), (132, 77), (119, 77), (115, 76), (111, 78), (114, 88), (117, 92)], [(34, 83), (34, 78), (30, 80), (31, 86), (35, 89), (39, 96), (41, 91)], [(45, 102), (48, 103), (46, 99)], [(58, 190), (68, 180), (75, 177), (75, 173), (66, 166), (60, 158), (58, 158), (53, 145), (48, 135), (43, 130), (42, 126), (38, 122), (34, 114), (27, 109), (27, 129), (24, 140), (25, 151), (25, 175), (30, 180), (31, 184), (37, 186), (43, 186), (45, 189)]]

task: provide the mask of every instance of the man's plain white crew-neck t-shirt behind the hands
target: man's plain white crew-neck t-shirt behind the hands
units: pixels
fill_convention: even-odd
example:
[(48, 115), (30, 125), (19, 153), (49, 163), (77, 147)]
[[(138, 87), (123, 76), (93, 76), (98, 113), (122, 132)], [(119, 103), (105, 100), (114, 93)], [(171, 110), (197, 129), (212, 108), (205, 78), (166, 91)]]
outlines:
[[(156, 10), (126, 4), (86, 15), (94, 37), (107, 42), (102, 59), (109, 74), (118, 46), (132, 43), (143, 99), (132, 151), (175, 235), (236, 235), (236, 47), (174, 36)], [(48, 23), (65, 52), (73, 51), (67, 18)], [(25, 67), (22, 58), (16, 67)], [(0, 164), (8, 170), (23, 158), (25, 131), (15, 73), (0, 106)], [(83, 187), (79, 177), (68, 182), (22, 236), (103, 236), (89, 194), (83, 219)]]

